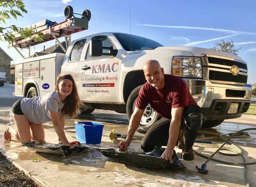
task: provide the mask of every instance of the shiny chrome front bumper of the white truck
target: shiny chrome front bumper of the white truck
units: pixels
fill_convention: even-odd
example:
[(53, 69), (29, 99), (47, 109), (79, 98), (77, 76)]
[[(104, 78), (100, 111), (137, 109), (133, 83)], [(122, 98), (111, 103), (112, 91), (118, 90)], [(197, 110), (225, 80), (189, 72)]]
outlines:
[[(251, 86), (212, 84), (207, 80), (185, 79), (189, 91), (203, 109), (205, 120), (225, 120), (240, 117), (250, 106)], [(232, 103), (237, 112), (229, 114)]]

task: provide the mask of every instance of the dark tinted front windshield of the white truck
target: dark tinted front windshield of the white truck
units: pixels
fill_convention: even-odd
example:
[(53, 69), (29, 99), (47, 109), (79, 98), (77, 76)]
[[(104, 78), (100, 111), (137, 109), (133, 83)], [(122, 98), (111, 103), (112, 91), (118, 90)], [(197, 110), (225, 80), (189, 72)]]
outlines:
[(133, 50), (151, 50), (161, 47), (160, 43), (141, 36), (129, 35), (124, 33), (113, 33), (113, 35), (121, 43), (122, 47), (127, 51)]

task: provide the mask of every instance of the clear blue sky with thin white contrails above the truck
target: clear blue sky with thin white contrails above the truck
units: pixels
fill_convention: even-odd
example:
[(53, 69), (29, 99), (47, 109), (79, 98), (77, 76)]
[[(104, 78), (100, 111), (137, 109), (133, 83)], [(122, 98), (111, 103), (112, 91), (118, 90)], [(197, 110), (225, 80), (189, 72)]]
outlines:
[[(7, 25), (26, 27), (48, 19), (65, 21), (64, 9), (91, 12), (89, 29), (72, 40), (100, 32), (124, 32), (143, 36), (164, 46), (211, 48), (217, 41), (233, 40), (239, 56), (248, 64), (248, 84), (256, 83), (256, 0), (23, 0), (27, 14)], [(75, 14), (76, 17), (80, 15)], [(63, 39), (60, 41), (63, 41)], [(31, 54), (55, 41), (31, 47)], [(14, 60), (22, 57), (6, 42), (0, 47)], [(21, 51), (26, 57), (28, 50)]]

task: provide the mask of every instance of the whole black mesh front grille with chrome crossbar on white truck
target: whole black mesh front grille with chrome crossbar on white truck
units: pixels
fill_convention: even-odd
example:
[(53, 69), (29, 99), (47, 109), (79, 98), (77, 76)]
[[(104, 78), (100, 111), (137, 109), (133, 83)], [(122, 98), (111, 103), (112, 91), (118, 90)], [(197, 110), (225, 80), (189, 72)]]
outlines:
[[(233, 82), (239, 84), (247, 83), (247, 65), (241, 62), (222, 59), (222, 58), (213, 58), (208, 57), (208, 65), (211, 67), (209, 70), (209, 80), (213, 81), (225, 81), (225, 82)], [(211, 65), (215, 64), (215, 65)], [(222, 65), (222, 66), (218, 66)], [(238, 74), (233, 74), (231, 72), (231, 68), (237, 66), (239, 68)]]

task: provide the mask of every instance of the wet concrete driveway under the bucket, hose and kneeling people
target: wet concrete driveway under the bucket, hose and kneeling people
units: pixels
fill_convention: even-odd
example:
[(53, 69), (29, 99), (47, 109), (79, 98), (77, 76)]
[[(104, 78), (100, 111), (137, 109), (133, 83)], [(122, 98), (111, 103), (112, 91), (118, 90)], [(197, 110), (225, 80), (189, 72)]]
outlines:
[[(0, 110), (1, 111), (1, 110)], [(131, 165), (125, 165), (120, 162), (106, 158), (95, 149), (90, 148), (83, 154), (69, 157), (61, 157), (45, 153), (36, 153), (30, 149), (21, 146), (14, 141), (4, 141), (3, 130), (5, 124), (12, 122), (10, 111), (0, 112), (0, 151), (4, 153), (17, 167), (30, 175), (32, 179), (43, 187), (243, 187), (246, 186), (244, 179), (244, 168), (238, 165), (226, 165), (215, 161), (207, 164), (208, 174), (198, 173), (195, 166), (201, 165), (206, 158), (195, 155), (195, 160), (185, 161), (181, 159), (181, 150), (175, 149), (178, 158), (187, 167), (187, 169), (146, 169), (137, 168)], [(75, 119), (67, 119), (66, 126), (74, 127), (74, 121), (93, 121), (104, 124), (104, 133), (102, 135), (102, 148), (117, 146), (121, 139), (115, 142), (109, 138), (112, 129), (127, 133), (128, 120), (125, 115), (97, 110), (90, 115), (80, 115)], [(213, 142), (214, 144), (196, 143), (194, 150), (205, 156), (210, 156), (217, 150), (222, 141), (218, 138), (220, 134), (236, 132), (241, 129), (255, 127), (255, 123), (237, 123), (223, 122), (221, 125), (211, 129), (201, 129), (197, 140)], [(253, 122), (256, 122), (254, 116)], [(57, 144), (58, 138), (51, 123), (46, 123), (45, 140), (46, 143)], [(69, 129), (69, 131), (74, 131)], [(242, 154), (247, 162), (256, 162), (256, 131), (247, 131), (250, 137), (237, 137), (232, 139), (232, 143), (240, 146)], [(140, 133), (136, 133), (142, 135)], [(75, 140), (74, 132), (66, 132), (69, 141)], [(216, 143), (216, 144), (215, 144)], [(232, 148), (232, 145), (226, 145)], [(140, 141), (133, 141), (129, 151), (142, 151)], [(32, 162), (33, 158), (38, 158), (39, 162)], [(237, 156), (224, 156), (217, 153), (216, 159), (227, 162), (241, 163), (242, 159)], [(251, 187), (256, 186), (255, 165), (248, 165), (248, 182)]]

